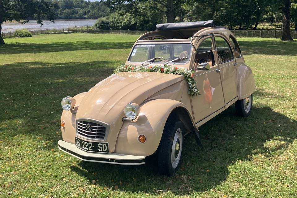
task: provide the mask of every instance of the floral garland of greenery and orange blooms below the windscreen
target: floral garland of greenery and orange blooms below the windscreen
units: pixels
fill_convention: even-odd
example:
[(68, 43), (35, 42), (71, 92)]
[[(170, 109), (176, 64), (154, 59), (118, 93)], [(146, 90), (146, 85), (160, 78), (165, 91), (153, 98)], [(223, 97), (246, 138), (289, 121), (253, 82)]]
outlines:
[(196, 80), (194, 78), (194, 71), (193, 70), (186, 70), (181, 69), (178, 67), (171, 67), (168, 65), (156, 65), (156, 66), (135, 66), (135, 65), (121, 65), (117, 67), (113, 73), (118, 72), (131, 72), (131, 71), (153, 71), (153, 72), (160, 72), (165, 74), (175, 74), (175, 75), (183, 75), (188, 83), (188, 94), (191, 96), (197, 96), (199, 94), (199, 90), (196, 87)]

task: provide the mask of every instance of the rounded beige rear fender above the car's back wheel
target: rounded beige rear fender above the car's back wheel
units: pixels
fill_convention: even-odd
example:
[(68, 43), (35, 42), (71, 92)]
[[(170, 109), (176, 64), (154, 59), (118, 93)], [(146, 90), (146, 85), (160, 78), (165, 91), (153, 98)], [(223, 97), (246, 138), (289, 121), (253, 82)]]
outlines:
[(254, 75), (251, 68), (240, 64), (237, 68), (238, 99), (248, 97), (256, 90)]

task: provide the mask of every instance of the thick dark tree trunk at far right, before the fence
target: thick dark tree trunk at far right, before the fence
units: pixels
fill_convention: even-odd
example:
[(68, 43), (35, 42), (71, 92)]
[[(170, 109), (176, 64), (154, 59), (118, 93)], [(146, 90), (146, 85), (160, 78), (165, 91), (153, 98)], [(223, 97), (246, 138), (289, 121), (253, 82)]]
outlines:
[(282, 41), (293, 41), (290, 33), (290, 0), (282, 1)]

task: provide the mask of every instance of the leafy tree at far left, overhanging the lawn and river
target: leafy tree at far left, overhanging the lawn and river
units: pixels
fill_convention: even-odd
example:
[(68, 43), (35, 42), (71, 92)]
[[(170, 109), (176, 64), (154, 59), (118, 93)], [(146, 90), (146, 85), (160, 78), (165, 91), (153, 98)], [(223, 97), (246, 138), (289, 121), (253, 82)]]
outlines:
[(5, 21), (28, 22), (28, 18), (34, 18), (37, 24), (43, 25), (42, 19), (54, 23), (57, 3), (46, 0), (0, 0), (0, 45), (5, 42), (1, 36), (2, 23)]

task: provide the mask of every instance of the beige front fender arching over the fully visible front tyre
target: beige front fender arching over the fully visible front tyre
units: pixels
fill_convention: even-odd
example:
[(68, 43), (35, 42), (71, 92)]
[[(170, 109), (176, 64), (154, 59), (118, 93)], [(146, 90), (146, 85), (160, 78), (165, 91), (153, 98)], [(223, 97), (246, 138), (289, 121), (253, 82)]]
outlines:
[[(123, 121), (115, 153), (138, 156), (149, 156), (155, 153), (167, 118), (177, 107), (187, 110), (183, 103), (170, 99), (151, 100), (141, 105), (140, 114), (135, 120)], [(189, 116), (191, 115), (189, 114)], [(138, 136), (141, 134), (146, 136), (146, 142), (143, 144), (138, 141)]]

